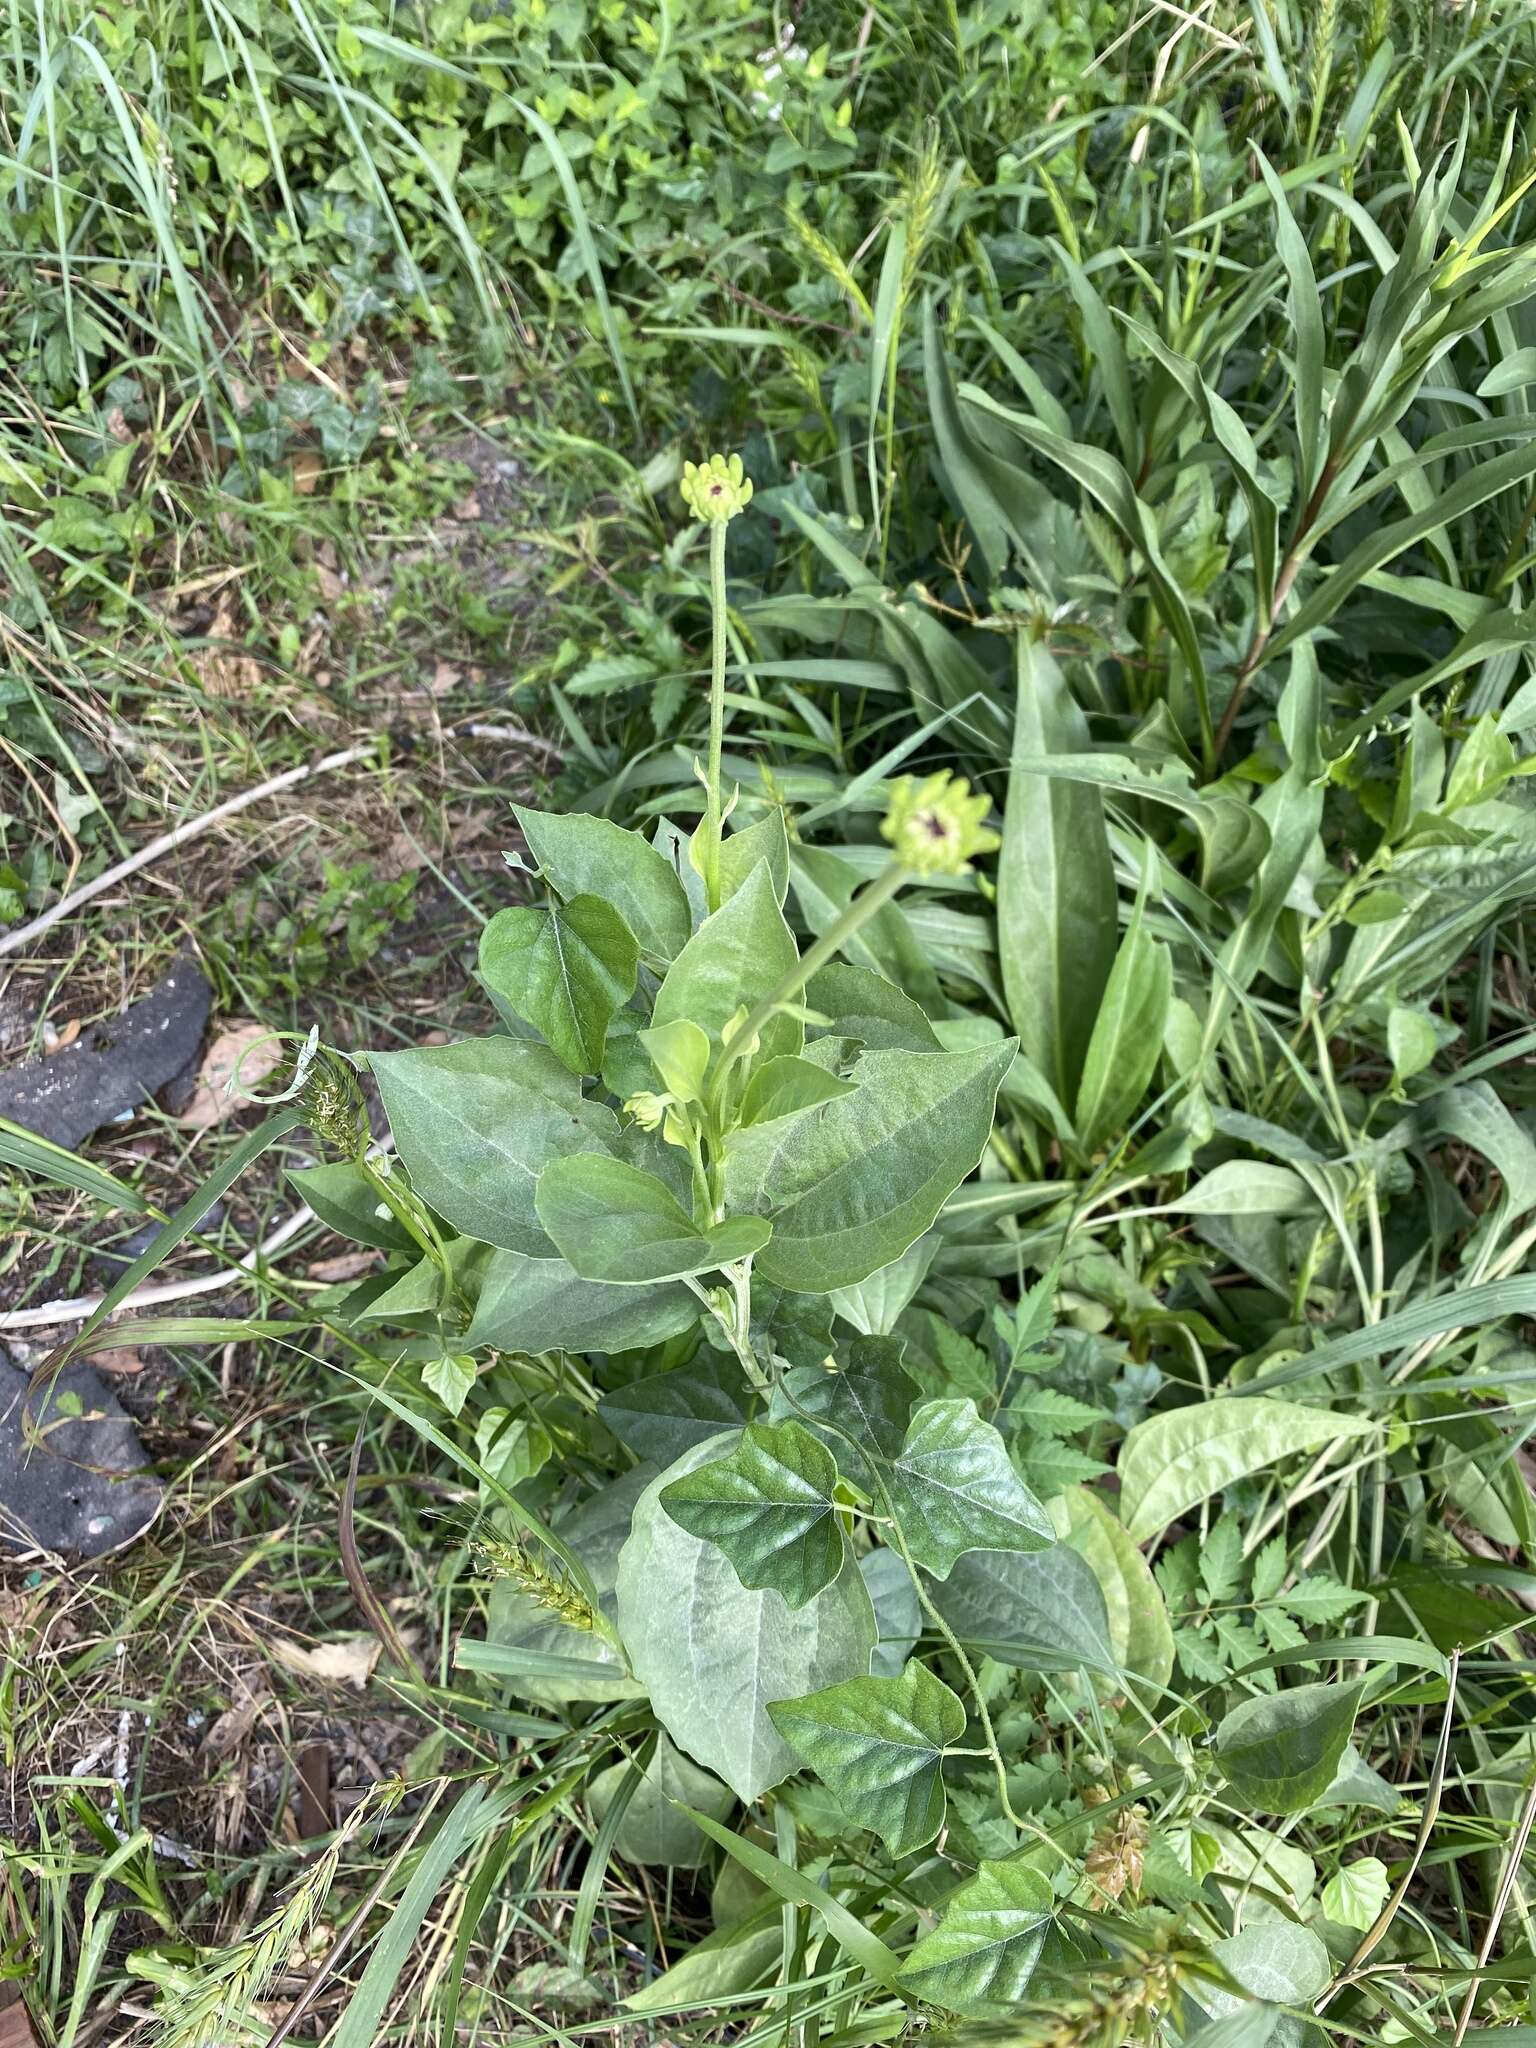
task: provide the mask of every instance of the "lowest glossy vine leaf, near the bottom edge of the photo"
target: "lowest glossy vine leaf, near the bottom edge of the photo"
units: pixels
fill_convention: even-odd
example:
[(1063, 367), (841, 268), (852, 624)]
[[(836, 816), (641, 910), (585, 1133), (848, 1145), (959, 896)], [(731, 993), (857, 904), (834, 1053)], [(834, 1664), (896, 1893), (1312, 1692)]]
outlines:
[(901, 1966), (901, 1989), (967, 2019), (1006, 2019), (1024, 1997), (1055, 1894), (1030, 1864), (981, 1864)]

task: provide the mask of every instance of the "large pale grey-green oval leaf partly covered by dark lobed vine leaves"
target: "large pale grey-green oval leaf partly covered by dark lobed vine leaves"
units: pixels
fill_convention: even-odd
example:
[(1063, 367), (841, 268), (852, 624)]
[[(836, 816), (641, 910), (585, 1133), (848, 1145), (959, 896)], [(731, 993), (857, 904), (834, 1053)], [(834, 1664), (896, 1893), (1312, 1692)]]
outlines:
[(791, 1610), (778, 1593), (745, 1591), (725, 1554), (666, 1511), (662, 1491), (731, 1442), (696, 1446), (641, 1495), (618, 1559), (618, 1632), (678, 1749), (754, 1800), (795, 1769), (768, 1702), (862, 1677), (877, 1636), (852, 1563)]

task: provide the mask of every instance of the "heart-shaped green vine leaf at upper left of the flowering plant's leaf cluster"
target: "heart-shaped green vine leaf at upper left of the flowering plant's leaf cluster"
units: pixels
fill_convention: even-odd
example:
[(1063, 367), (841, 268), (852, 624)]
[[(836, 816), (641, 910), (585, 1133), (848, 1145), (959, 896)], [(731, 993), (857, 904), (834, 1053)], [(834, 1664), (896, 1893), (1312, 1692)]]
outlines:
[(532, 1024), (571, 1073), (602, 1067), (608, 1018), (635, 993), (639, 946), (602, 897), (498, 909), (479, 934), (492, 995)]

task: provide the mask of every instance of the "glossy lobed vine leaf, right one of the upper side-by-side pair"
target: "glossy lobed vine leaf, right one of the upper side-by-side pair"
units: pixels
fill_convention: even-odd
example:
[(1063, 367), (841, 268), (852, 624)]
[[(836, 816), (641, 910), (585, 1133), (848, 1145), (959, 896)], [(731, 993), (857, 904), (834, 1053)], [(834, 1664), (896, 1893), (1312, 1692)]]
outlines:
[(940, 1579), (967, 1550), (1049, 1550), (1057, 1540), (975, 1401), (924, 1401), (885, 1485), (907, 1548)]

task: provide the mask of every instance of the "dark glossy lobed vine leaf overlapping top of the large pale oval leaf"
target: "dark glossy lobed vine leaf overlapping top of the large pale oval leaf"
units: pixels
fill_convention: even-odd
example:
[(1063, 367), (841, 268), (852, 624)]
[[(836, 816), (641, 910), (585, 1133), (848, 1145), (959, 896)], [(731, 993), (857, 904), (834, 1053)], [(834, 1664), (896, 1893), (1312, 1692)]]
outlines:
[(758, 1421), (725, 1458), (674, 1479), (662, 1505), (690, 1536), (717, 1544), (741, 1585), (803, 1608), (831, 1585), (848, 1552), (836, 1487), (831, 1452), (809, 1430)]

